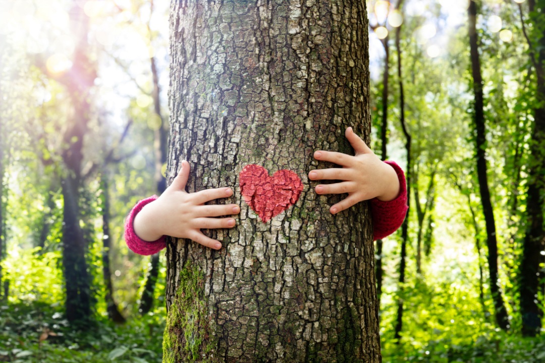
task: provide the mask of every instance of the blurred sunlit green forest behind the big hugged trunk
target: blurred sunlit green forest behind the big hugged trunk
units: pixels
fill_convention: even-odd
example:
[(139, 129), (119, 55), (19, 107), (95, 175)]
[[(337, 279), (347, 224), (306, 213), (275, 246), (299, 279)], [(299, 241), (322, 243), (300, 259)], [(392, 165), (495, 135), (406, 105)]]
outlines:
[[(132, 253), (123, 231), (131, 207), (164, 187), (168, 5), (0, 1), (0, 361), (161, 359), (164, 256)], [(371, 147), (410, 178), (407, 224), (376, 246), (384, 361), (545, 362), (544, 240), (528, 237), (544, 228), (543, 1), (367, 9)], [(83, 91), (82, 129), (72, 96)], [(84, 260), (65, 278), (74, 155)], [(81, 274), (89, 309), (70, 315)]]

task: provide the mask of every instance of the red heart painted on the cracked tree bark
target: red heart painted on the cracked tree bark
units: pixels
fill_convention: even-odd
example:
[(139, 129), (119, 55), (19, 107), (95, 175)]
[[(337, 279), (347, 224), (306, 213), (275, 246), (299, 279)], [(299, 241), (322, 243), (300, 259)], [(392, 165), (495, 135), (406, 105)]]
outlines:
[(263, 222), (287, 210), (299, 199), (303, 184), (291, 170), (269, 171), (259, 165), (246, 165), (240, 172), (240, 190), (246, 203)]

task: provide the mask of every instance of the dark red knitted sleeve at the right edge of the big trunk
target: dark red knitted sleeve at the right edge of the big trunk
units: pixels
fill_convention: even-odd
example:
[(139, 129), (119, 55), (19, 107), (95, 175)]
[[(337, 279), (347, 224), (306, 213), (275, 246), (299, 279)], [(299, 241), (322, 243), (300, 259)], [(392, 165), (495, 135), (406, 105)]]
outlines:
[(403, 170), (393, 161), (386, 161), (386, 164), (396, 171), (399, 178), (399, 195), (390, 201), (381, 201), (377, 198), (371, 199), (371, 215), (373, 219), (373, 239), (384, 238), (395, 232), (405, 219), (407, 214), (407, 183)]

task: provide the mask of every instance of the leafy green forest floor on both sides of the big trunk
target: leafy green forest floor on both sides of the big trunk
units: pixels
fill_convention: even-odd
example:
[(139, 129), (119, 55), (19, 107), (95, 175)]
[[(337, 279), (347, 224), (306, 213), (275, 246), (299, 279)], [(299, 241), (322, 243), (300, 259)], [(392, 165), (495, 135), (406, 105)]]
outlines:
[[(0, 304), (0, 362), (155, 363), (162, 359), (164, 317), (147, 315), (125, 324), (106, 317), (74, 329), (62, 306)], [(431, 341), (425, 349), (402, 344), (383, 352), (384, 363), (545, 363), (545, 337), (523, 339), (497, 332), (464, 345)]]

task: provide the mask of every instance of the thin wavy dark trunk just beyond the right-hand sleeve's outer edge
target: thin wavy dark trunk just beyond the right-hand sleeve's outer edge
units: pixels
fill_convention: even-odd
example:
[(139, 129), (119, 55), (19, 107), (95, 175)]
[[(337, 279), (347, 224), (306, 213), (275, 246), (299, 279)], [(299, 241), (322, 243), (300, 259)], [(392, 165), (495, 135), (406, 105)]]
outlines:
[[(403, 0), (398, 0), (397, 9), (401, 11)], [(397, 300), (397, 317), (396, 325), (394, 328), (394, 337), (396, 343), (401, 342), (401, 330), (403, 329), (403, 291), (405, 284), (405, 258), (407, 258), (407, 241), (409, 239), (409, 210), (410, 210), (410, 188), (411, 188), (411, 137), (405, 124), (405, 94), (403, 92), (403, 72), (402, 72), (402, 54), (401, 54), (401, 26), (396, 29), (396, 50), (397, 50), (397, 77), (399, 83), (399, 121), (405, 134), (405, 150), (407, 151), (407, 214), (401, 225), (401, 254), (399, 255), (399, 287), (398, 287), (398, 300)]]

